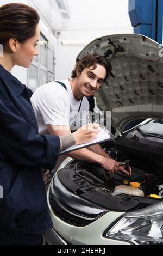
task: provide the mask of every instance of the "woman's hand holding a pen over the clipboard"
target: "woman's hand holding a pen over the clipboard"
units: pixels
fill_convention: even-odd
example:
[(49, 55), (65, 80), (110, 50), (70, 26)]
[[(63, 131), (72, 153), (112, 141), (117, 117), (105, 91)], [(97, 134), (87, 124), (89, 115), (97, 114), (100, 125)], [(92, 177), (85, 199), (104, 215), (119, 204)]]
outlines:
[(76, 145), (93, 141), (98, 135), (99, 127), (99, 124), (88, 124), (73, 132), (72, 136), (76, 141)]

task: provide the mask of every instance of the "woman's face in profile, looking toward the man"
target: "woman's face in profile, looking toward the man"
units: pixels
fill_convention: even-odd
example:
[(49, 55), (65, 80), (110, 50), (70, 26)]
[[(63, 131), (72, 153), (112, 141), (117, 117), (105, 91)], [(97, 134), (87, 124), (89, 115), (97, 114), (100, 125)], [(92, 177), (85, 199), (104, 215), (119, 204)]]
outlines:
[(12, 56), (12, 61), (14, 65), (23, 66), (24, 68), (29, 68), (35, 55), (38, 55), (37, 42), (40, 37), (40, 29), (37, 25), (35, 35), (29, 38), (24, 43), (17, 42), (16, 51)]

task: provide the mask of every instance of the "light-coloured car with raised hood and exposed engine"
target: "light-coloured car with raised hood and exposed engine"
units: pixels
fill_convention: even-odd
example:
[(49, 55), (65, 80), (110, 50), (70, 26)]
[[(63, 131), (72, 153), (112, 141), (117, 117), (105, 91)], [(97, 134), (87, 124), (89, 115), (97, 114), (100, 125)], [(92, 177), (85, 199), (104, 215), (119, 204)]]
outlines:
[[(130, 165), (132, 175), (109, 174), (98, 164), (70, 158), (62, 162), (47, 191), (54, 224), (45, 233), (49, 245), (163, 245), (161, 51), (146, 36), (116, 34), (92, 41), (79, 53), (77, 59), (97, 53), (112, 64), (111, 76), (96, 92), (98, 108), (111, 111), (115, 136), (102, 148)], [(124, 131), (135, 120), (141, 123)], [(132, 182), (140, 184), (141, 193), (115, 189), (130, 190)]]

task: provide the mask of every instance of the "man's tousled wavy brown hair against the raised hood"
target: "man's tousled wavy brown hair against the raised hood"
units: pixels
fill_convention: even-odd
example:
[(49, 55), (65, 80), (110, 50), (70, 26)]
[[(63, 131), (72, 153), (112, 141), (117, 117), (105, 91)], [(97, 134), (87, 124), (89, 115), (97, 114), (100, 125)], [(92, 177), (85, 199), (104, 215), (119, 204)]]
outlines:
[(104, 66), (106, 69), (106, 79), (111, 74), (111, 63), (105, 57), (97, 54), (86, 54), (82, 59), (78, 60), (75, 68), (72, 70), (71, 78), (77, 77), (77, 70), (79, 74), (81, 74), (85, 68), (90, 68), (90, 66), (93, 66), (93, 69), (96, 69), (98, 64)]

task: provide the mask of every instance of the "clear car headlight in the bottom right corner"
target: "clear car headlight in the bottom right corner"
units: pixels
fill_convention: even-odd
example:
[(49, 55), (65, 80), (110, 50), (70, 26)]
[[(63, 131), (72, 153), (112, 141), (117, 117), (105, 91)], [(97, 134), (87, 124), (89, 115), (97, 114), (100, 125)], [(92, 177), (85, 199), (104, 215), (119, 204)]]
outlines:
[(163, 203), (124, 214), (108, 230), (105, 233), (108, 238), (128, 241), (135, 245), (163, 245)]

